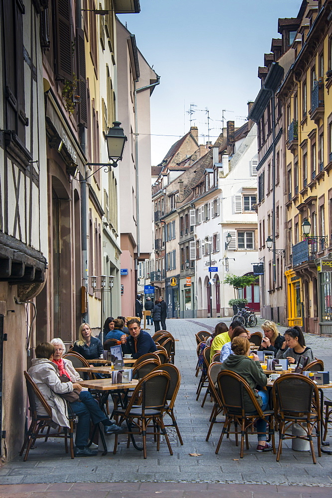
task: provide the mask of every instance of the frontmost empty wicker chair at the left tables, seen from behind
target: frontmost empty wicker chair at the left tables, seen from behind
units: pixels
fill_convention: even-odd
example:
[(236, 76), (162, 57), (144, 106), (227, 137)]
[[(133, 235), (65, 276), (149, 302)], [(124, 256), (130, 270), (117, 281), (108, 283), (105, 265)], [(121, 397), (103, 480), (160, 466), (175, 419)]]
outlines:
[[(160, 435), (165, 437), (169, 452), (173, 451), (168, 439), (168, 435), (163, 422), (165, 412), (166, 396), (169, 388), (171, 377), (167, 372), (155, 371), (148, 373), (142, 378), (135, 387), (130, 401), (125, 409), (114, 410), (113, 415), (116, 424), (123, 420), (127, 424), (127, 434), (133, 440), (134, 436), (142, 435), (143, 439), (143, 456), (146, 458), (146, 435), (153, 434), (157, 436), (157, 451), (160, 446)], [(153, 423), (152, 432), (147, 432), (151, 422)], [(133, 430), (134, 429), (134, 430)], [(127, 447), (129, 446), (129, 441)], [(115, 434), (113, 453), (116, 453), (117, 434)]]

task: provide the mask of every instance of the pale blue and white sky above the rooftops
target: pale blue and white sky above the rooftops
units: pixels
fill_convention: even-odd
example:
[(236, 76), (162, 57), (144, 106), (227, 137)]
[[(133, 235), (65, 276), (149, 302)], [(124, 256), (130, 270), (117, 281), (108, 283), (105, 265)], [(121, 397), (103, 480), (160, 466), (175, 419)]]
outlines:
[[(264, 65), (278, 17), (296, 17), (301, 0), (140, 0), (139, 14), (121, 14), (136, 36), (147, 62), (160, 76), (151, 96), (152, 165), (190, 128), (200, 143), (213, 141), (224, 124), (241, 126), (248, 100), (260, 89), (258, 66)], [(175, 136), (170, 136), (175, 135)]]

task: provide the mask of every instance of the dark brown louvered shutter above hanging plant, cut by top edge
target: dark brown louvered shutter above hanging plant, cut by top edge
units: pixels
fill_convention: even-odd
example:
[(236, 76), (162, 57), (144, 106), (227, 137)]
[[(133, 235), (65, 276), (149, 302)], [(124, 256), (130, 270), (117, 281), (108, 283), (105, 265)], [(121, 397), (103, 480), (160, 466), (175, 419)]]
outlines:
[(71, 0), (57, 0), (54, 4), (57, 26), (56, 72), (58, 76), (73, 81)]

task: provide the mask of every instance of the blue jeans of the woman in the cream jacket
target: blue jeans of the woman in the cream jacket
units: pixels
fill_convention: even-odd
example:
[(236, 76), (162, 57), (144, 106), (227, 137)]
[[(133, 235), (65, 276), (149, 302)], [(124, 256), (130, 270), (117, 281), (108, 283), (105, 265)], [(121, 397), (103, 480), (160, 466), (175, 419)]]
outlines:
[(87, 446), (90, 432), (90, 417), (93, 424), (98, 424), (102, 420), (106, 420), (107, 416), (100, 409), (91, 392), (81, 391), (80, 401), (69, 403), (73, 412), (78, 416), (75, 444), (76, 446)]

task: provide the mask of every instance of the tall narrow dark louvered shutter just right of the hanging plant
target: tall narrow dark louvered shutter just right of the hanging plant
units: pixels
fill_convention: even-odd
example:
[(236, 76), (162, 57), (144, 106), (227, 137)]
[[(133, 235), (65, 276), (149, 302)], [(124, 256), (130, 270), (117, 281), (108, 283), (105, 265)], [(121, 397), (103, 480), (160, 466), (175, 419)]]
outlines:
[(79, 126), (84, 126), (87, 128), (88, 107), (87, 107), (87, 79), (85, 73), (85, 39), (84, 39), (84, 31), (81, 28), (76, 29), (76, 50), (77, 50), (77, 66), (78, 66), (77, 93), (81, 99), (81, 102), (78, 106), (78, 124)]

